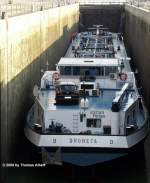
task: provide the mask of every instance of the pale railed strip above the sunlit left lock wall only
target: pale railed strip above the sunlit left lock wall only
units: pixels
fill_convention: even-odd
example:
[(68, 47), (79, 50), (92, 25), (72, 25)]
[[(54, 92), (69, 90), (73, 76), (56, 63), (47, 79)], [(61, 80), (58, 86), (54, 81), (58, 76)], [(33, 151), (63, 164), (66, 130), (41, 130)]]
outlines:
[(78, 0), (0, 1), (0, 19), (78, 3)]

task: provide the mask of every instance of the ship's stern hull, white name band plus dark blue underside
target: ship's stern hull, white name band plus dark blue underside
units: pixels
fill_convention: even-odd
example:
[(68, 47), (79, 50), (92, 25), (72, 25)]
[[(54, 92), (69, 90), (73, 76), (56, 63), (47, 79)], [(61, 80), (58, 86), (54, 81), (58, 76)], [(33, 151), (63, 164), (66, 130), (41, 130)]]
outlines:
[[(41, 147), (42, 161), (45, 164), (62, 165), (63, 162), (66, 162), (77, 166), (90, 166), (141, 152), (148, 129), (149, 124), (147, 121), (142, 129), (128, 136), (83, 137), (78, 135), (78, 138), (76, 138), (75, 135), (43, 135), (26, 126), (25, 135), (34, 145)], [(59, 138), (62, 141), (64, 140), (63, 146), (59, 144)], [(103, 141), (103, 138), (105, 141)], [(70, 145), (65, 145), (66, 139), (68, 139)], [(121, 139), (120, 143), (119, 139)], [(107, 140), (112, 144), (108, 146)], [(103, 146), (100, 146), (98, 141), (103, 141)], [(115, 146), (115, 141), (118, 146)]]

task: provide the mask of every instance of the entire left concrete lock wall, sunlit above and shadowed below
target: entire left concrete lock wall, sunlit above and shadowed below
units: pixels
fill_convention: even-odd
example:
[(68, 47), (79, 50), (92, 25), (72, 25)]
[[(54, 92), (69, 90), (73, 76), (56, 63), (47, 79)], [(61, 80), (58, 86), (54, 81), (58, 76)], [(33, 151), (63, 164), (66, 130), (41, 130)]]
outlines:
[(1, 160), (12, 162), (32, 90), (41, 69), (55, 69), (71, 32), (77, 31), (79, 5), (68, 5), (0, 21)]

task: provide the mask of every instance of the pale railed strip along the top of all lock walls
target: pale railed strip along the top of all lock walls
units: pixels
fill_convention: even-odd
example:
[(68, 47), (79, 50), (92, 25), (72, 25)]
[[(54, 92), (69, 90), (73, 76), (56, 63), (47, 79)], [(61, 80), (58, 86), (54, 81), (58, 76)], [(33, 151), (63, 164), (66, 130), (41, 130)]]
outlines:
[(150, 0), (0, 0), (0, 19), (74, 3), (80, 5), (127, 3), (150, 10)]

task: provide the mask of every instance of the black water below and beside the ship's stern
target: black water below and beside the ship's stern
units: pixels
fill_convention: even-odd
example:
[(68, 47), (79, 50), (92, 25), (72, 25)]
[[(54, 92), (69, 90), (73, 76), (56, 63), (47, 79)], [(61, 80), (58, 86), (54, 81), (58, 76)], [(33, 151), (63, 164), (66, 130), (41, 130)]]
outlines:
[[(21, 149), (18, 159), (40, 162), (30, 143)], [(30, 159), (32, 157), (32, 159)], [(34, 157), (34, 158), (33, 158)], [(23, 159), (24, 160), (21, 160)], [(71, 165), (44, 168), (8, 168), (7, 183), (150, 183), (150, 135), (145, 141), (144, 152), (91, 167)]]

